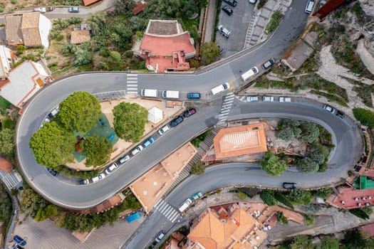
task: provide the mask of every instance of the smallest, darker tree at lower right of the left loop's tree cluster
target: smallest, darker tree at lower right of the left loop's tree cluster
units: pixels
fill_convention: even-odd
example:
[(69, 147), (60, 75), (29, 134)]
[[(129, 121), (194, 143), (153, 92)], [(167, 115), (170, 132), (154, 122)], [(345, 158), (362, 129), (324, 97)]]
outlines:
[(85, 166), (99, 166), (109, 161), (113, 146), (106, 137), (85, 137), (83, 142)]

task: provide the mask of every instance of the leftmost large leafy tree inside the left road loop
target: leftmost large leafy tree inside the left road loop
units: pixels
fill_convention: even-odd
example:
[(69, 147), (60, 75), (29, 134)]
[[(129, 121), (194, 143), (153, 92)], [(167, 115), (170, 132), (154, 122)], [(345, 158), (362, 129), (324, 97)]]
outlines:
[(32, 135), (29, 145), (38, 164), (55, 168), (73, 161), (75, 142), (73, 132), (50, 122)]

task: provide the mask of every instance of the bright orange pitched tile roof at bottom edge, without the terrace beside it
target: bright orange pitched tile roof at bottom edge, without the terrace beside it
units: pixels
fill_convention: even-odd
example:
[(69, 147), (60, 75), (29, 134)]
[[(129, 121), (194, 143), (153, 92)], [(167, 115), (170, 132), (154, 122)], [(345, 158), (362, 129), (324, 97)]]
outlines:
[(220, 249), (239, 243), (255, 227), (256, 221), (236, 204), (228, 211), (231, 216), (219, 218), (217, 211), (208, 208), (187, 237), (204, 248)]

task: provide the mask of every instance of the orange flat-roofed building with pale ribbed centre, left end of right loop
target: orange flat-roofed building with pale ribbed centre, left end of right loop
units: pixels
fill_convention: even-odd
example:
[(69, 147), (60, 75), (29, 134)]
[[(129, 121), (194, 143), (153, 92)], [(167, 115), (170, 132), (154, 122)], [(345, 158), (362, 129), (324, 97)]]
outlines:
[(216, 159), (267, 151), (263, 123), (220, 129), (213, 143)]

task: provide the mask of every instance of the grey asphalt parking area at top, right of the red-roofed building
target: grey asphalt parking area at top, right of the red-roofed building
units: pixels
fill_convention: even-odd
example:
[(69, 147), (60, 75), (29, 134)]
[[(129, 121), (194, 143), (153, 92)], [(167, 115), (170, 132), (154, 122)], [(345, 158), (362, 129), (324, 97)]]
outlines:
[(216, 43), (224, 49), (223, 53), (220, 55), (221, 58), (228, 57), (229, 55), (243, 50), (246, 41), (246, 31), (248, 30), (249, 22), (254, 13), (254, 4), (249, 4), (248, 0), (237, 1), (237, 6), (235, 7), (222, 1), (222, 6), (225, 5), (229, 6), (233, 10), (233, 13), (229, 16), (221, 10), (219, 14), (219, 24), (223, 25), (231, 32), (229, 38), (217, 32)]

